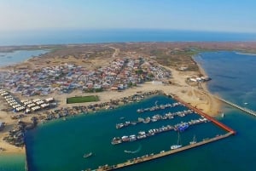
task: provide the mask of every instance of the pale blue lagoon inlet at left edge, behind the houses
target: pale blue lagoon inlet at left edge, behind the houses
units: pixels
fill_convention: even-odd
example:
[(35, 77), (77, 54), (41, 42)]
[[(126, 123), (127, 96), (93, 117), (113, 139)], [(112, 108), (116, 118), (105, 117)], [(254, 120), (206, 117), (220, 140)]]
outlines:
[(47, 53), (48, 50), (16, 50), (13, 52), (0, 52), (0, 67), (18, 64), (25, 60)]

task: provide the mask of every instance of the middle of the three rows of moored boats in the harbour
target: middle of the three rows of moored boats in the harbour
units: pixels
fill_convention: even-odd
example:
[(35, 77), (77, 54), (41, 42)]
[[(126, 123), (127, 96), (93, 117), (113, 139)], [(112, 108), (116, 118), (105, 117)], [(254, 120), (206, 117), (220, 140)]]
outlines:
[(136, 125), (137, 123), (150, 123), (150, 122), (154, 123), (160, 120), (172, 119), (175, 116), (184, 117), (185, 115), (188, 115), (193, 112), (194, 111), (192, 110), (184, 110), (184, 111), (177, 111), (174, 113), (168, 112), (168, 113), (165, 113), (164, 115), (157, 114), (157, 115), (154, 115), (153, 117), (146, 117), (146, 118), (138, 117), (137, 121), (134, 121), (134, 122), (126, 121), (125, 123), (117, 123), (115, 127), (125, 128), (125, 127), (128, 127), (129, 125)]

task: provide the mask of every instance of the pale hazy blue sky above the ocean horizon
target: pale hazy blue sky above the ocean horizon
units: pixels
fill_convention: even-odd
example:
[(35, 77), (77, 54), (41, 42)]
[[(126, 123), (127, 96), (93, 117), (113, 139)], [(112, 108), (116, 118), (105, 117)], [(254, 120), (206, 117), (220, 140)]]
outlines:
[(255, 0), (0, 0), (0, 31), (256, 32)]

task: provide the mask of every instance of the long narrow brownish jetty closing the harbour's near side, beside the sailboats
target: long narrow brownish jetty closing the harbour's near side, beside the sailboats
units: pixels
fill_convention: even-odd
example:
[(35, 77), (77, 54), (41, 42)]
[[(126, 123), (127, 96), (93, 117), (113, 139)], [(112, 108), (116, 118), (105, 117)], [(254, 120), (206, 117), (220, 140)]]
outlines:
[(151, 154), (151, 155), (145, 155), (143, 157), (137, 157), (137, 158), (128, 160), (127, 162), (122, 162), (122, 163), (119, 163), (119, 164), (116, 164), (116, 165), (113, 165), (113, 166), (105, 165), (105, 166), (96, 168), (95, 170), (96, 171), (113, 170), (113, 169), (118, 169), (118, 168), (125, 168), (125, 167), (131, 166), (131, 165), (134, 165), (134, 164), (137, 164), (137, 163), (141, 163), (141, 162), (148, 162), (150, 160), (154, 160), (154, 159), (157, 159), (157, 158), (160, 158), (160, 157), (166, 157), (166, 156), (172, 155), (172, 154), (180, 152), (180, 151), (189, 150), (191, 148), (195, 148), (195, 147), (200, 146), (200, 145), (206, 145), (206, 144), (211, 143), (211, 142), (216, 141), (216, 140), (222, 140), (224, 138), (229, 137), (232, 134), (233, 134), (232, 132), (229, 132), (227, 134), (218, 135), (216, 137), (213, 137), (212, 139), (202, 140), (198, 143), (191, 144), (191, 145), (186, 145), (186, 146), (183, 146), (183, 147), (175, 149), (175, 150), (160, 151), (160, 153), (157, 153), (157, 154)]

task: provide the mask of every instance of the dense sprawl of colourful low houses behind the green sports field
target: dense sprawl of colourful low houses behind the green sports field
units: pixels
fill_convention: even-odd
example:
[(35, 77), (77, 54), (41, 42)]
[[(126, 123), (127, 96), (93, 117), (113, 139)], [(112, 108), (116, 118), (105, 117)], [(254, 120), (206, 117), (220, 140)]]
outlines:
[(43, 67), (38, 71), (21, 69), (0, 72), (0, 86), (14, 94), (31, 97), (53, 92), (69, 93), (73, 89), (81, 92), (124, 90), (146, 81), (165, 83), (171, 76), (170, 71), (158, 66), (155, 61), (140, 57), (113, 60), (108, 66), (92, 71), (82, 66), (64, 64)]

